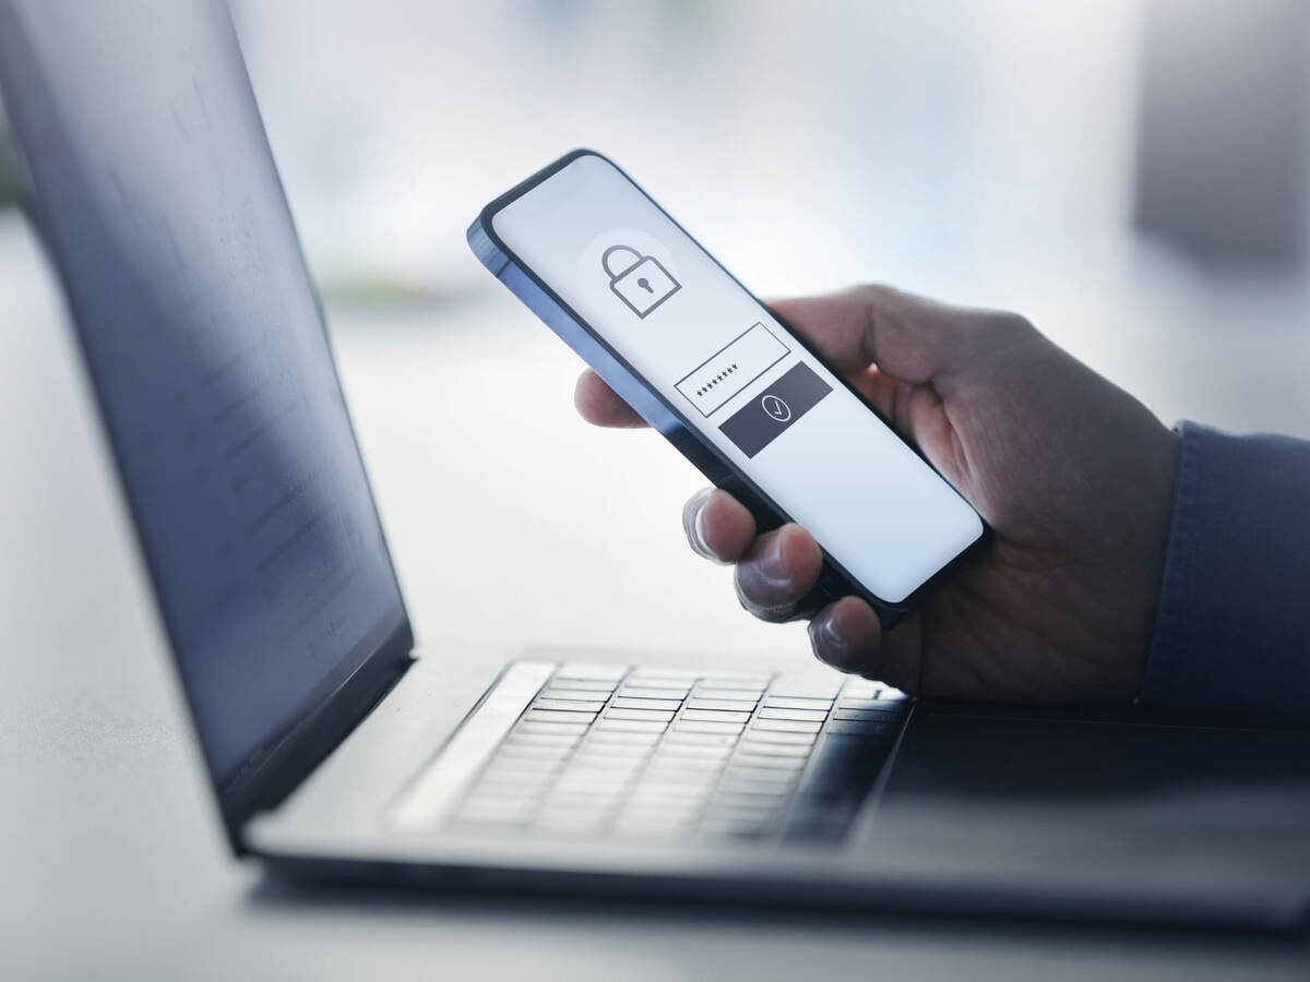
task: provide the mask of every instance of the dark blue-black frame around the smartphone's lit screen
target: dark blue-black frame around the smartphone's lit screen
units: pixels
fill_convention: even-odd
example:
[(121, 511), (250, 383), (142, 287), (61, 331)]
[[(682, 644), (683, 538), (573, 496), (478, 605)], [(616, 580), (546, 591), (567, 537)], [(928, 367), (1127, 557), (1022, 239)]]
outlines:
[[(761, 488), (751, 478), (749, 474), (747, 474), (745, 471), (743, 471), (741, 467), (738, 466), (734, 461), (731, 461), (722, 450), (719, 450), (718, 446), (715, 446), (710, 440), (707, 440), (705, 436), (702, 436), (701, 432), (696, 428), (696, 424), (690, 420), (689, 416), (686, 416), (669, 399), (667, 399), (664, 397), (664, 394), (656, 386), (654, 386), (641, 372), (638, 372), (635, 368), (633, 368), (633, 365), (627, 361), (627, 359), (625, 359), (621, 352), (618, 352), (595, 327), (592, 327), (592, 325), (584, 317), (582, 317), (582, 314), (579, 314), (576, 310), (574, 310), (572, 306), (570, 306), (569, 302), (563, 297), (561, 297), (550, 287), (549, 283), (546, 283), (545, 280), (542, 280), (533, 268), (531, 268), (527, 263), (524, 263), (523, 259), (519, 257), (519, 254), (515, 253), (504, 242), (504, 240), (500, 238), (500, 236), (495, 230), (494, 217), (495, 217), (496, 212), (502, 211), (511, 202), (515, 202), (519, 198), (521, 198), (523, 195), (528, 194), (529, 191), (532, 191), (538, 185), (545, 183), (552, 177), (554, 177), (557, 173), (559, 173), (561, 170), (563, 170), (566, 166), (569, 166), (570, 164), (572, 164), (575, 160), (579, 160), (580, 157), (597, 157), (597, 158), (603, 160), (605, 164), (608, 164), (609, 166), (612, 166), (616, 172), (618, 172), (618, 174), (621, 174), (625, 181), (627, 181), (634, 189), (637, 189), (637, 191), (643, 198), (646, 198), (646, 200), (648, 200), (665, 219), (668, 219), (669, 223), (672, 223), (672, 225), (679, 232), (681, 232), (684, 236), (686, 236), (692, 241), (692, 244), (696, 245), (697, 249), (700, 249), (702, 253), (705, 253), (705, 255), (709, 257), (710, 262), (713, 262), (715, 266), (718, 266), (719, 270), (722, 270), (723, 274), (730, 280), (732, 280), (732, 283), (735, 283), (739, 289), (741, 289), (748, 297), (751, 297), (751, 300), (753, 300), (756, 304), (758, 304), (761, 308), (764, 308), (769, 313), (770, 317), (773, 317), (776, 321), (778, 321), (778, 323), (781, 323), (791, 334), (793, 339), (798, 344), (800, 344), (807, 352), (810, 352), (810, 355), (814, 359), (816, 359), (819, 361), (819, 364), (821, 364), (824, 368), (827, 368), (837, 378), (837, 381), (842, 386), (845, 386), (845, 389), (852, 395), (854, 395), (861, 403), (863, 403), (863, 406), (870, 412), (872, 412), (883, 423), (883, 426), (886, 426), (892, 432), (892, 435), (896, 436), (897, 440), (900, 440), (903, 444), (905, 444), (907, 446), (909, 446), (918, 456), (918, 458), (922, 460), (933, 470), (934, 474), (937, 474), (939, 478), (942, 478), (942, 481), (946, 483), (946, 486), (950, 487), (956, 495), (960, 496), (960, 499), (967, 505), (969, 505), (969, 508), (973, 509), (975, 515), (979, 515), (977, 508), (973, 508), (973, 504), (967, 498), (964, 498), (963, 494), (960, 494), (959, 488), (956, 488), (950, 481), (946, 479), (946, 477), (935, 466), (933, 466), (933, 462), (929, 461), (927, 457), (924, 456), (924, 452), (920, 450), (920, 448), (916, 446), (913, 443), (910, 443), (909, 440), (907, 440), (896, 429), (896, 427), (891, 423), (891, 420), (888, 420), (882, 412), (879, 412), (876, 406), (874, 406), (869, 399), (865, 398), (865, 395), (858, 389), (855, 389), (849, 381), (846, 381), (846, 377), (838, 369), (836, 369), (832, 364), (829, 364), (828, 359), (824, 357), (823, 354), (820, 354), (804, 338), (803, 334), (800, 334), (799, 331), (796, 331), (796, 329), (791, 323), (789, 323), (786, 321), (786, 318), (781, 317), (777, 312), (773, 310), (773, 308), (770, 308), (768, 304), (765, 304), (762, 300), (760, 300), (753, 292), (751, 292), (741, 283), (741, 280), (739, 280), (736, 276), (734, 276), (727, 270), (727, 267), (724, 267), (723, 263), (720, 263), (718, 261), (718, 258), (713, 253), (710, 253), (709, 249), (706, 249), (703, 245), (701, 245), (700, 240), (697, 240), (690, 232), (688, 232), (683, 227), (683, 224), (680, 221), (677, 221), (677, 219), (675, 219), (672, 215), (669, 215), (668, 211), (665, 211), (664, 207), (660, 206), (659, 202), (656, 202), (650, 194), (647, 194), (646, 189), (643, 189), (639, 183), (637, 183), (626, 170), (624, 170), (621, 166), (618, 166), (613, 160), (610, 160), (609, 157), (607, 157), (604, 153), (599, 153), (596, 151), (587, 149), (587, 148), (578, 148), (575, 151), (570, 151), (565, 156), (559, 157), (558, 160), (553, 161), (552, 164), (548, 164), (546, 166), (544, 166), (541, 170), (536, 172), (531, 177), (525, 178), (524, 181), (520, 181), (517, 185), (515, 185), (514, 187), (511, 187), (508, 191), (506, 191), (500, 196), (493, 199), (486, 207), (483, 207), (482, 211), (478, 213), (478, 225), (481, 227), (481, 230), (483, 232), (483, 234), (486, 234), (486, 237), (491, 241), (491, 244), (496, 249), (499, 249), (500, 253), (504, 254), (504, 257), (507, 258), (507, 261), (510, 263), (512, 263), (529, 280), (532, 280), (550, 299), (550, 301), (553, 304), (555, 304), (570, 319), (572, 319), (574, 323), (576, 323), (582, 330), (584, 330), (588, 334), (588, 336), (592, 338), (592, 340), (595, 340), (597, 344), (600, 344), (610, 355), (610, 357), (613, 357), (614, 361), (617, 361), (618, 365), (621, 365), (622, 369), (638, 385), (641, 385), (656, 402), (660, 403), (660, 406), (664, 407), (665, 411), (668, 411), (677, 420), (677, 423), (680, 424), (680, 427), (692, 439), (694, 439), (696, 443), (700, 445), (700, 448), (703, 452), (709, 453), (715, 460), (715, 462), (724, 471), (727, 471), (728, 474), (731, 474), (736, 481), (741, 482), (753, 495), (756, 495), (765, 505), (768, 505), (768, 508), (770, 508), (774, 512), (774, 515), (777, 515), (783, 522), (793, 521), (793, 518), (787, 515), (786, 509), (783, 509), (782, 507), (779, 507), (778, 503), (774, 501), (773, 498), (766, 491), (764, 491), (764, 488)], [(700, 461), (694, 460), (693, 457), (689, 457), (683, 448), (677, 448), (677, 449), (681, 450), (683, 456), (688, 457), (688, 460), (690, 460), (690, 462), (698, 470), (701, 470), (702, 473), (706, 473), (705, 467), (701, 465)], [(722, 483), (723, 483), (723, 482), (717, 481), (714, 478), (714, 475), (711, 475), (711, 474), (706, 473), (706, 477), (709, 477), (711, 481), (715, 481), (715, 484), (718, 484), (718, 486), (722, 486)], [(935, 589), (938, 589), (941, 585), (943, 585), (947, 580), (952, 579), (960, 571), (962, 567), (972, 563), (979, 556), (979, 554), (990, 545), (990, 542), (993, 541), (992, 526), (986, 522), (986, 520), (981, 515), (979, 515), (979, 521), (982, 524), (982, 532), (979, 534), (979, 537), (976, 539), (973, 539), (973, 542), (971, 542), (965, 549), (960, 550), (948, 563), (946, 563), (943, 567), (941, 567), (935, 573), (933, 573), (926, 580), (924, 580), (924, 583), (921, 583), (918, 587), (914, 588), (914, 591), (912, 591), (909, 594), (907, 594), (904, 600), (900, 600), (900, 601), (896, 601), (896, 602), (892, 602), (889, 600), (884, 600), (884, 598), (879, 597), (878, 594), (875, 594), (872, 591), (870, 591), (867, 587), (865, 587), (854, 575), (850, 573), (849, 570), (846, 570), (841, 563), (838, 563), (827, 549), (824, 549), (824, 546), (823, 546), (821, 542), (819, 542), (819, 549), (823, 553), (824, 563), (828, 567), (831, 567), (833, 571), (836, 571), (842, 579), (845, 579), (846, 584), (852, 588), (852, 591), (855, 594), (861, 596), (863, 600), (866, 600), (867, 602), (870, 602), (875, 609), (876, 608), (883, 608), (883, 609), (888, 609), (888, 610), (904, 613), (904, 611), (909, 611), (909, 610), (913, 610), (917, 606), (920, 606), (922, 598), (926, 594), (933, 593)]]

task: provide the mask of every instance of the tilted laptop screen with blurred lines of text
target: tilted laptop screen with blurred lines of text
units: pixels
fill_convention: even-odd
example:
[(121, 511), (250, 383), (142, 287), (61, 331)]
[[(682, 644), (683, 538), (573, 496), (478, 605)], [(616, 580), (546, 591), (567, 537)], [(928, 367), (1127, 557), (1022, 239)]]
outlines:
[(0, 0), (0, 88), (221, 790), (407, 630), (232, 24)]

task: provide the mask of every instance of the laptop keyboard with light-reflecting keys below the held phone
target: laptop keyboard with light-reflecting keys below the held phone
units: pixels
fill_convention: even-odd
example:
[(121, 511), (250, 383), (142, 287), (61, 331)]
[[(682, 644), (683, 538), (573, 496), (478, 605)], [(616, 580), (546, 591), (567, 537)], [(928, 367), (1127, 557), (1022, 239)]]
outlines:
[(561, 665), (445, 818), (456, 833), (836, 841), (904, 724), (861, 678)]

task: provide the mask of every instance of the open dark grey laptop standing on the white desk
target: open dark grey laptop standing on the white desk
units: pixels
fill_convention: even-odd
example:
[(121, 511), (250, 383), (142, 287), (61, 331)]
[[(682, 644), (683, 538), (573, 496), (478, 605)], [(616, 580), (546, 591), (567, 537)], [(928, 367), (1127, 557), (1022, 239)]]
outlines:
[(0, 0), (0, 88), (237, 855), (431, 889), (1303, 923), (1296, 720), (419, 653), (225, 9)]

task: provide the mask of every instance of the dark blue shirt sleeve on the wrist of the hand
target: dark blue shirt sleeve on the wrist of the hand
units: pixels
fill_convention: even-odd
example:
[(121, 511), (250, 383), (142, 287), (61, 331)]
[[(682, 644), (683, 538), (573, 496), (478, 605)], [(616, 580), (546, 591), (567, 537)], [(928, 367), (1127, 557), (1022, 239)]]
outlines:
[(1141, 703), (1310, 712), (1310, 443), (1179, 432)]

